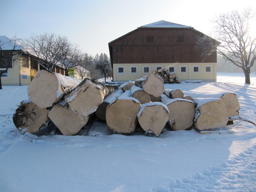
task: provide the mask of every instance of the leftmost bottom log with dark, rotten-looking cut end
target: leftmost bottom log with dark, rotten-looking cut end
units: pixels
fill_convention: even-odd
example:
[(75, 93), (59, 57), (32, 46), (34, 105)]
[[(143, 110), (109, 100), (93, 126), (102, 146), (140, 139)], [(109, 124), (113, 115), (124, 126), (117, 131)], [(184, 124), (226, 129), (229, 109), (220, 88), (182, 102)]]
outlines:
[(13, 115), (13, 122), (19, 131), (35, 133), (47, 123), (47, 114), (46, 108), (40, 108), (31, 101), (22, 101)]

